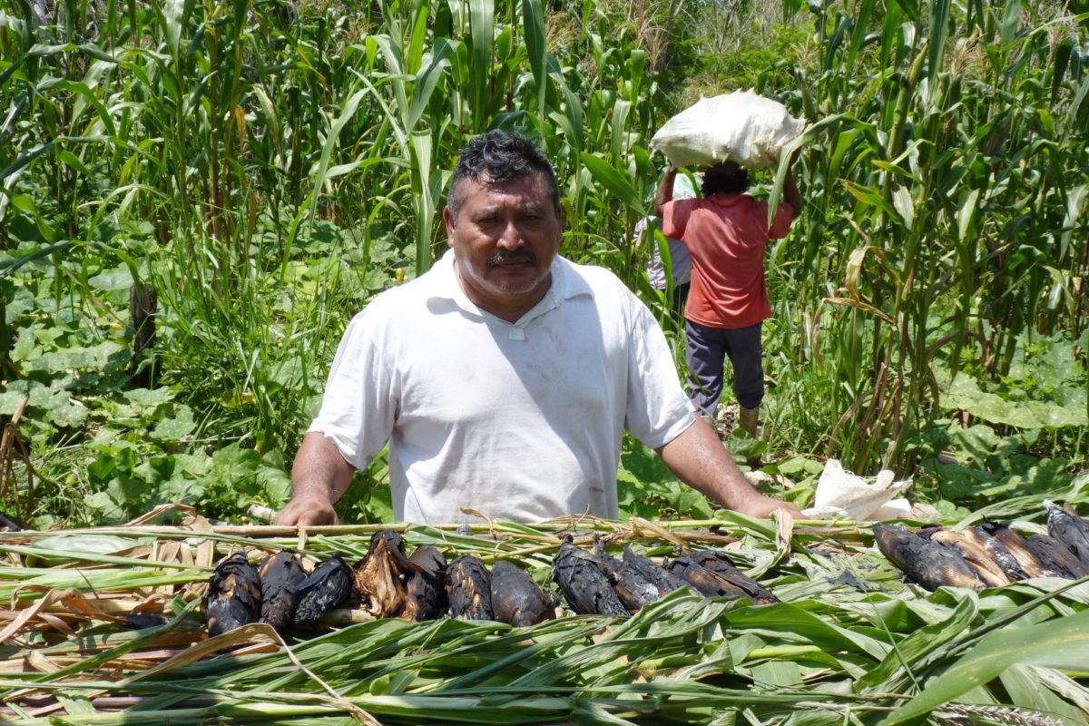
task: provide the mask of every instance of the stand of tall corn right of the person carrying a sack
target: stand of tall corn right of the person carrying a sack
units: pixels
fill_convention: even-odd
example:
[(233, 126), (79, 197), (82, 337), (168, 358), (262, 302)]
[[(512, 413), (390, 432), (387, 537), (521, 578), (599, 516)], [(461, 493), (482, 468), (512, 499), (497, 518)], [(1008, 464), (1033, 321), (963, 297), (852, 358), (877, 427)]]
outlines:
[[(1085, 327), (1085, 34), (1050, 5), (813, 7), (823, 65), (800, 260), (781, 308), (829, 378), (831, 452), (904, 463), (940, 365), (1008, 370), (1017, 336)], [(925, 11), (925, 12), (923, 12)], [(959, 28), (953, 37), (954, 24)], [(817, 140), (820, 139), (820, 140)], [(780, 180), (785, 169), (780, 170)]]

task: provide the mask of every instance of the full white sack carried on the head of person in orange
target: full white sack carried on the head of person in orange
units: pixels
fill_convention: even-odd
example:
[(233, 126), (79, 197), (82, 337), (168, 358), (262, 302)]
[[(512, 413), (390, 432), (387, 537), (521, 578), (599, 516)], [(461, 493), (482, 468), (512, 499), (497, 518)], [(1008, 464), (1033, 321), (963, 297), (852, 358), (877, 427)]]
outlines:
[(674, 167), (736, 161), (747, 169), (770, 167), (784, 144), (806, 127), (779, 101), (738, 90), (701, 98), (658, 130), (650, 146)]

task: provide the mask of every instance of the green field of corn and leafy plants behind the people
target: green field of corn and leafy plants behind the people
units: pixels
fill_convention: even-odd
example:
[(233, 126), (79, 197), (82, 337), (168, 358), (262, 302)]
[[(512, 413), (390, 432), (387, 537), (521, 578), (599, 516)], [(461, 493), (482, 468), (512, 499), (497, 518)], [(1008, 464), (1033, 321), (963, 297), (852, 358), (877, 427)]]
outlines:
[[(441, 251), (449, 170), (488, 127), (541, 143), (563, 254), (680, 353), (649, 250), (622, 244), (664, 163), (647, 141), (750, 84), (811, 123), (805, 213), (769, 257), (769, 470), (804, 504), (799, 454), (892, 467), (951, 514), (1065, 487), (1089, 428), (1087, 63), (1084, 16), (1019, 0), (17, 0), (0, 506), (48, 527), (279, 505), (346, 320)], [(644, 454), (629, 514), (706, 514)], [(345, 518), (388, 517), (383, 467)]]

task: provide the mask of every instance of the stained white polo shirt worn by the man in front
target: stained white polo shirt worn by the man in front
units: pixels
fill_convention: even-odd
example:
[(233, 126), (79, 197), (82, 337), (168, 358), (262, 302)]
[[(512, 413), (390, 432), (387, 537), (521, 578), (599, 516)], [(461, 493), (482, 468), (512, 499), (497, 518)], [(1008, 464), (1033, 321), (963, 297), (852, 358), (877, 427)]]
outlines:
[(397, 520), (615, 518), (623, 430), (651, 448), (695, 421), (665, 336), (611, 272), (558, 257), (515, 323), (465, 296), (453, 253), (352, 319), (310, 431), (356, 468), (390, 443)]

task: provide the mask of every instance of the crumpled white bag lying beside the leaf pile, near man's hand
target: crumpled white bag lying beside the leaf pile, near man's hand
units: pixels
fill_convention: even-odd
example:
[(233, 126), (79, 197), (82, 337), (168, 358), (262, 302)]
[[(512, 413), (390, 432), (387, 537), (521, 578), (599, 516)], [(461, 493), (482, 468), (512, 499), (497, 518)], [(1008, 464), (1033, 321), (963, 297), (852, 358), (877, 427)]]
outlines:
[(910, 479), (893, 482), (889, 469), (870, 481), (844, 470), (839, 459), (829, 459), (817, 480), (813, 506), (802, 514), (807, 519), (849, 517), (856, 521), (917, 517), (922, 513), (900, 497), (910, 485)]

